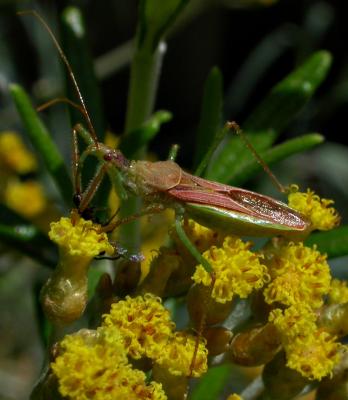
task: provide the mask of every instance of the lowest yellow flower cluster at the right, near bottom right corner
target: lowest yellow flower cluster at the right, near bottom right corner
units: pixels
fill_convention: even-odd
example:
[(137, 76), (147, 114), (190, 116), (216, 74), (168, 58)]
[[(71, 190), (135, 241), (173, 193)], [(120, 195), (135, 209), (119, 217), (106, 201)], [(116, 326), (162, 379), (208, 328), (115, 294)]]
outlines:
[(308, 379), (320, 380), (332, 373), (339, 360), (340, 344), (328, 332), (318, 329), (310, 307), (291, 306), (270, 313), (287, 355), (287, 366)]

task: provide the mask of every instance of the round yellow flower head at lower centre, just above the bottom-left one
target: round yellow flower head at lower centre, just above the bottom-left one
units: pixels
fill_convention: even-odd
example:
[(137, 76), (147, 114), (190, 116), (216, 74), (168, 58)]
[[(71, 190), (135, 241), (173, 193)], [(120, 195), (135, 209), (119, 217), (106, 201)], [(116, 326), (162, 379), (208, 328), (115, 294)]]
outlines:
[(150, 293), (112, 304), (103, 326), (121, 332), (128, 355), (135, 359), (157, 358), (175, 328), (161, 299)]

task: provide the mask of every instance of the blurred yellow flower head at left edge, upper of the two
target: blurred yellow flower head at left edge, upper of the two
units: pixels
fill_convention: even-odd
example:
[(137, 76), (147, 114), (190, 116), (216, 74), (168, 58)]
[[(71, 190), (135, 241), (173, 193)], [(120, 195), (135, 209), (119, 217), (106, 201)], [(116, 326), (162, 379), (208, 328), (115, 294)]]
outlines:
[(25, 148), (15, 132), (0, 134), (0, 160), (1, 164), (18, 174), (28, 174), (37, 169), (34, 156)]

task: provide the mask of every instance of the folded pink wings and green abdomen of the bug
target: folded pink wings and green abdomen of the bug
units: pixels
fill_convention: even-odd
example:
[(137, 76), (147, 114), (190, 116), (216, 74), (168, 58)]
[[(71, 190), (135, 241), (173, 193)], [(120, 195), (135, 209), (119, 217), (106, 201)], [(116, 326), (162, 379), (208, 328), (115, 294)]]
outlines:
[(309, 231), (300, 213), (271, 197), (187, 173), (183, 182), (168, 194), (182, 201), (187, 214), (205, 226), (250, 236), (301, 238)]

